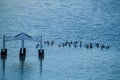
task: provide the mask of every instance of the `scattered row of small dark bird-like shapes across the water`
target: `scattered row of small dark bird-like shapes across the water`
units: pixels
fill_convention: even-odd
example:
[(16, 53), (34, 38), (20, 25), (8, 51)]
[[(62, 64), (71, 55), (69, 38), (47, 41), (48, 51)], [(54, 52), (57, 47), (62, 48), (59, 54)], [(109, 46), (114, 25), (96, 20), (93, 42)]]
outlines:
[[(53, 46), (55, 44), (54, 41), (44, 41), (44, 44), (47, 45), (47, 46)], [(36, 45), (36, 48), (39, 46), (39, 44)], [(74, 47), (74, 48), (77, 48), (77, 47), (85, 47), (87, 49), (92, 49), (92, 48), (100, 48), (101, 50), (102, 49), (109, 49), (110, 46), (109, 45), (105, 45), (105, 44), (100, 44), (100, 43), (88, 43), (88, 44), (83, 44), (82, 41), (64, 41), (64, 42), (60, 42), (58, 44), (58, 47), (61, 48), (65, 48), (65, 47)]]

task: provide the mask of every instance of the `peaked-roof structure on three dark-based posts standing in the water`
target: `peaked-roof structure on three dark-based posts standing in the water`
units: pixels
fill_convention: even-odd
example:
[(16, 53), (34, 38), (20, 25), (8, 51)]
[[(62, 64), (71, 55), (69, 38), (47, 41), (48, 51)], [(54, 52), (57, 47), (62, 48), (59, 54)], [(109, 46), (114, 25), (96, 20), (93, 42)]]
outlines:
[(29, 36), (25, 33), (20, 33), (16, 36), (13, 36), (10, 38), (6, 38), (6, 36), (3, 35), (3, 49), (1, 49), (1, 58), (7, 57), (7, 49), (5, 48), (5, 43), (8, 41), (13, 41), (13, 40), (21, 40), (21, 48), (20, 48), (20, 53), (19, 53), (20, 59), (25, 59), (25, 57), (26, 57), (26, 48), (24, 47), (25, 40), (39, 42), (40, 48), (38, 50), (38, 56), (39, 56), (39, 58), (44, 58), (44, 49), (42, 46), (42, 36), (41, 36), (40, 40), (37, 40), (37, 39), (33, 39), (31, 36)]

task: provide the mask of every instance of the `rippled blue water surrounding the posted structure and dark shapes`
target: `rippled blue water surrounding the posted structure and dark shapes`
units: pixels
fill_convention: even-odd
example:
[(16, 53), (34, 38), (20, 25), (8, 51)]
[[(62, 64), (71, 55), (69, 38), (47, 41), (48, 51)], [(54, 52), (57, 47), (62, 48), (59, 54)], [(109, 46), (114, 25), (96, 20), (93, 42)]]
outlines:
[[(19, 61), (21, 41), (6, 43), (8, 56), (0, 61), (0, 80), (119, 80), (120, 0), (0, 0), (2, 36), (25, 32), (55, 44), (44, 45), (38, 59), (37, 42), (25, 41), (27, 55)], [(64, 41), (100, 43), (110, 49), (59, 48)]]

